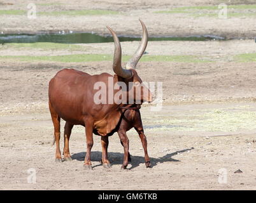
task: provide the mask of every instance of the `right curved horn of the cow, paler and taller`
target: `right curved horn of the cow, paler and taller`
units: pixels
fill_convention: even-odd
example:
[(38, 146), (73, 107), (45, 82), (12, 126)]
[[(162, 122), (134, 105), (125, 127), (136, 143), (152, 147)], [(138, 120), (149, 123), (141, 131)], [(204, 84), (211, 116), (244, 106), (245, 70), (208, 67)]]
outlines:
[(143, 29), (141, 44), (139, 45), (137, 51), (134, 53), (129, 62), (127, 62), (126, 69), (136, 69), (136, 65), (139, 62), (141, 56), (143, 55), (146, 49), (146, 45), (148, 44), (148, 30), (146, 30), (146, 25), (140, 19), (139, 22), (141, 22)]

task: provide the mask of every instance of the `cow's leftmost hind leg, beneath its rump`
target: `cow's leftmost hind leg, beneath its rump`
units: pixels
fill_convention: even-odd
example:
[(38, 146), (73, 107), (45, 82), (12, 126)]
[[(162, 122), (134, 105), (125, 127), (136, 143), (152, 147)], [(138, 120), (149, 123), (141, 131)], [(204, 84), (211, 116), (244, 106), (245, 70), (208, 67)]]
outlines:
[(52, 116), (52, 122), (54, 126), (54, 141), (53, 144), (56, 142), (56, 153), (55, 153), (55, 161), (62, 162), (62, 157), (60, 154), (60, 116), (55, 112), (52, 108), (52, 105), (49, 102), (50, 113)]

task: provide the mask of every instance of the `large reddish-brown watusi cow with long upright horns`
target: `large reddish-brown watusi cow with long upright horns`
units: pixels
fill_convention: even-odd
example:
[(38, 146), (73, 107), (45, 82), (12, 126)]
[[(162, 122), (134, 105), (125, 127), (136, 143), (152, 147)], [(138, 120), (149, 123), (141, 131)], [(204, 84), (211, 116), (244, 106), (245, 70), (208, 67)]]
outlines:
[[(131, 105), (141, 104), (144, 101), (151, 102), (152, 94), (145, 85), (142, 84), (141, 78), (136, 72), (135, 68), (139, 59), (143, 55), (146, 45), (148, 43), (148, 32), (145, 24), (141, 22), (143, 27), (143, 36), (141, 44), (137, 49), (134, 56), (126, 65), (126, 69), (122, 68), (122, 49), (118, 40), (117, 34), (107, 27), (114, 39), (115, 53), (113, 58), (113, 71), (115, 75), (107, 73), (99, 75), (89, 75), (85, 72), (81, 72), (74, 69), (63, 69), (57, 72), (57, 74), (49, 82), (49, 108), (52, 115), (52, 121), (54, 126), (54, 139), (56, 141), (56, 153), (55, 160), (62, 162), (60, 154), (59, 140), (60, 140), (60, 118), (66, 121), (64, 127), (64, 160), (72, 160), (69, 154), (69, 137), (74, 125), (85, 126), (85, 135), (87, 141), (87, 154), (85, 156), (84, 167), (86, 169), (92, 169), (90, 161), (90, 151), (93, 146), (92, 133), (101, 136), (101, 145), (103, 150), (102, 162), (104, 167), (110, 167), (110, 161), (108, 160), (108, 136), (113, 134), (113, 131), (117, 131), (118, 124), (120, 124), (119, 136), (124, 145), (124, 163), (122, 168), (125, 169), (128, 164), (128, 151), (129, 140), (122, 130), (122, 123), (125, 123), (123, 113), (125, 108), (131, 108)], [(129, 82), (132, 82), (132, 86), (127, 89), (113, 88), (113, 85), (109, 81), (113, 81), (113, 84), (117, 82), (124, 82), (128, 87)], [(94, 96), (98, 93), (98, 89), (95, 89), (95, 84), (104, 84), (106, 91), (103, 91), (104, 97), (106, 95), (108, 101), (106, 103), (97, 103)], [(122, 90), (122, 103), (111, 103), (114, 96)], [(139, 89), (139, 91), (138, 91)], [(113, 92), (111, 96), (110, 92)], [(129, 110), (129, 109), (128, 109)], [(132, 109), (130, 109), (132, 110)], [(141, 122), (140, 116), (138, 117)], [(130, 123), (129, 123), (130, 125)], [(130, 128), (127, 125), (127, 128)], [(145, 140), (145, 135), (140, 135)], [(144, 141), (145, 143), (145, 141)], [(144, 144), (143, 147), (146, 148)], [(146, 152), (146, 149), (145, 149)], [(149, 158), (145, 155), (146, 166), (149, 166)]]

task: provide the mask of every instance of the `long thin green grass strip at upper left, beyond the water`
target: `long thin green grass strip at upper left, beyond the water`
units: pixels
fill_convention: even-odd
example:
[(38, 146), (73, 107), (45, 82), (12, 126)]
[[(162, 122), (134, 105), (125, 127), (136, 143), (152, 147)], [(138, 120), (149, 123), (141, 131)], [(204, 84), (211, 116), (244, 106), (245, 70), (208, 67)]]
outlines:
[(70, 15), (70, 16), (80, 16), (80, 15), (115, 15), (118, 11), (110, 10), (72, 10), (72, 11), (48, 11), (39, 12), (39, 15)]

